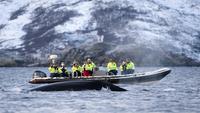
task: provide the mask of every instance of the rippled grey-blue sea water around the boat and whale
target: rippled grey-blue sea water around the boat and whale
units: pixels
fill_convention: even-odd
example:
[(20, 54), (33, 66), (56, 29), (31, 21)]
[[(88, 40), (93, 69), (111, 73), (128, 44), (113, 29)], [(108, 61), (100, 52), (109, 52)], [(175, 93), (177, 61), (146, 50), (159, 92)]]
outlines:
[(0, 113), (200, 113), (200, 67), (171, 69), (159, 82), (120, 84), (127, 92), (29, 92), (33, 71), (47, 68), (0, 68)]

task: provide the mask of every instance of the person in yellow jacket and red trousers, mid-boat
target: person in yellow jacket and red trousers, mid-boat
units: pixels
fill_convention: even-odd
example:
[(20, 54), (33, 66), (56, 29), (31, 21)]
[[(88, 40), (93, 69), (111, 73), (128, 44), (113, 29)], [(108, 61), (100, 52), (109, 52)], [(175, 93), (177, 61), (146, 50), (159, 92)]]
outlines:
[(87, 59), (87, 61), (83, 64), (83, 76), (92, 76), (93, 71), (96, 68), (94, 62), (91, 59)]

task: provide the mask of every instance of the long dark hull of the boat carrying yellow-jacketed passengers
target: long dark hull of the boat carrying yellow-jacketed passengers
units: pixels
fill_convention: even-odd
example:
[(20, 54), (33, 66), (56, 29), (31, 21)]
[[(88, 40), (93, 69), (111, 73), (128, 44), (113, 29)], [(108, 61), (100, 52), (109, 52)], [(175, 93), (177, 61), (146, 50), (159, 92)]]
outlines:
[(155, 71), (149, 71), (144, 73), (134, 73), (128, 75), (103, 75), (103, 76), (91, 76), (91, 77), (79, 77), (79, 78), (64, 78), (64, 77), (34, 77), (29, 81), (32, 84), (43, 83), (55, 83), (63, 81), (73, 80), (100, 80), (110, 83), (122, 83), (122, 84), (136, 84), (144, 82), (159, 81), (171, 72), (169, 68), (162, 68)]

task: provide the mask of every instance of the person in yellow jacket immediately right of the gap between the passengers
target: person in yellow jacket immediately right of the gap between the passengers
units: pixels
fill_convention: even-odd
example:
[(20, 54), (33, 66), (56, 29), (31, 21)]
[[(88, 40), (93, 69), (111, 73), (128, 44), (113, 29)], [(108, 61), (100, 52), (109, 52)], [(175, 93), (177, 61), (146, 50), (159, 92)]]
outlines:
[(107, 64), (108, 75), (117, 75), (117, 64), (113, 59), (110, 59)]

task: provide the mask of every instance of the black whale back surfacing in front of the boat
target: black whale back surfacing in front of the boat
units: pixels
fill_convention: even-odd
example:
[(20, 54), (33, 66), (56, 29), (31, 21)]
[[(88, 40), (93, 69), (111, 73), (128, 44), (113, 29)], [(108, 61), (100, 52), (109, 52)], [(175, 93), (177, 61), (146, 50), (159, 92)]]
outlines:
[(31, 91), (101, 90), (103, 87), (109, 88), (111, 91), (126, 91), (126, 89), (113, 85), (112, 83), (98, 80), (75, 80), (56, 82), (32, 89)]

